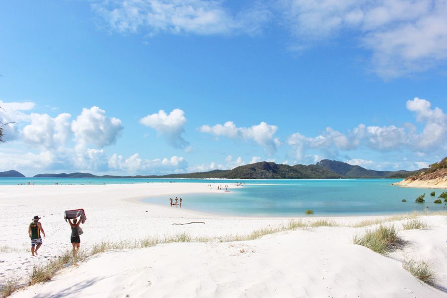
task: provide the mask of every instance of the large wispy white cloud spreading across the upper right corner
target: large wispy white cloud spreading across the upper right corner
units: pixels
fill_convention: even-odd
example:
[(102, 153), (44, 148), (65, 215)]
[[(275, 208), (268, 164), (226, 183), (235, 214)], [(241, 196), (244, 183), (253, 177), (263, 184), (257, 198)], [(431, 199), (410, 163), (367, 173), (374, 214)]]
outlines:
[(280, 3), (283, 21), (300, 43), (334, 38), (344, 30), (356, 33), (381, 77), (424, 71), (447, 59), (446, 0)]

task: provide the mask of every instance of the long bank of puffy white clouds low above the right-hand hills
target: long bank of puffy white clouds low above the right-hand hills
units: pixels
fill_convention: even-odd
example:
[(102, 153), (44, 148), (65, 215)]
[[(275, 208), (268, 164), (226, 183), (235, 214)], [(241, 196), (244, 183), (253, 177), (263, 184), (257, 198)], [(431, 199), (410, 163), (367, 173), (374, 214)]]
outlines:
[(339, 150), (367, 147), (375, 151), (410, 150), (420, 156), (427, 152), (440, 155), (447, 148), (447, 115), (431, 103), (415, 97), (406, 103), (408, 110), (415, 112), (416, 120), (424, 125), (422, 132), (410, 123), (404, 127), (358, 125), (347, 134), (331, 128), (317, 137), (306, 137), (295, 133), (288, 138), (296, 160), (307, 160), (309, 150), (319, 150), (325, 158), (339, 158)]

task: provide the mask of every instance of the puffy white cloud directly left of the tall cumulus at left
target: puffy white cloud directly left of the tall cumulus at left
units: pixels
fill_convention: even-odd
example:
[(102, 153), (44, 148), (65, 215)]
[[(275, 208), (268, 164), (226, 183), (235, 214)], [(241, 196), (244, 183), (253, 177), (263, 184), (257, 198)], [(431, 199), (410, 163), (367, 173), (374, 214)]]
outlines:
[(68, 113), (52, 118), (47, 114), (31, 114), (31, 124), (23, 128), (23, 140), (47, 149), (63, 147), (72, 135)]

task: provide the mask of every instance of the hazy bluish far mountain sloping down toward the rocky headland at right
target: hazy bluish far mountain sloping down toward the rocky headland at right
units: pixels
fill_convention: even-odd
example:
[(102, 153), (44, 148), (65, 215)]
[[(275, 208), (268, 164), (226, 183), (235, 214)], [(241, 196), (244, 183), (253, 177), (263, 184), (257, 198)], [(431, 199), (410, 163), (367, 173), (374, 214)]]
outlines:
[(351, 165), (346, 162), (322, 159), (316, 163), (317, 166), (333, 171), (346, 178), (405, 178), (416, 173), (422, 172), (424, 169), (417, 171), (375, 171), (368, 170), (360, 165)]

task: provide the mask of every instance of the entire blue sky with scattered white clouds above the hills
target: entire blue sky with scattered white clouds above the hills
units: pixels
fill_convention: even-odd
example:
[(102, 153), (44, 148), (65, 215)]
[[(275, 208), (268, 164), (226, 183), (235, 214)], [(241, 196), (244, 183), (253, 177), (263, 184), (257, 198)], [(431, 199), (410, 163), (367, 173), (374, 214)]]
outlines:
[(0, 2), (0, 171), (447, 154), (447, 0)]

